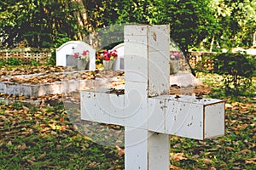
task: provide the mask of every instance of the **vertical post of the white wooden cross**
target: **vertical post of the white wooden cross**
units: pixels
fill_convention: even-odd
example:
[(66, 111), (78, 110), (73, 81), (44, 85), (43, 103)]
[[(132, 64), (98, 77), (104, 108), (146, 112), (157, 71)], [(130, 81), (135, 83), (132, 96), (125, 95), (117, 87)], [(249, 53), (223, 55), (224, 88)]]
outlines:
[(169, 26), (125, 26), (125, 169), (169, 169), (169, 135), (147, 130), (148, 98), (169, 94), (169, 44)]

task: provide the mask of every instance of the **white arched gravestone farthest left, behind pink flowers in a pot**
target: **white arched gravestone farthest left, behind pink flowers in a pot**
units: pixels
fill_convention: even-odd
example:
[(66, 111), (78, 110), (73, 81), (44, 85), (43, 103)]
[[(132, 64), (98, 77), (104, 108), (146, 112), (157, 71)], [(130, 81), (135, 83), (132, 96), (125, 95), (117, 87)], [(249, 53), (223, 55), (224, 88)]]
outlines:
[(86, 70), (96, 70), (96, 50), (91, 48), (86, 42), (69, 41), (56, 48), (56, 65), (72, 66), (77, 65), (76, 59), (73, 58), (74, 53), (82, 54), (84, 50), (89, 50), (90, 61)]

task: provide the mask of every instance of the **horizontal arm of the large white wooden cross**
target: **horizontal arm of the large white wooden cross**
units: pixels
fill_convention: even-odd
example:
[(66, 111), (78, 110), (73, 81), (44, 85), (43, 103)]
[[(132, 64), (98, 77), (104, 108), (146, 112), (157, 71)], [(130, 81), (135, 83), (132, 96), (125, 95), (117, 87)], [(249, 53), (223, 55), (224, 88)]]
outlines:
[(110, 89), (81, 93), (81, 118), (86, 121), (137, 127), (191, 139), (224, 135), (224, 101), (192, 96), (160, 95), (143, 99), (112, 94)]

